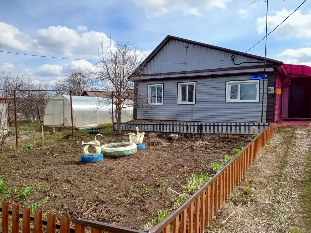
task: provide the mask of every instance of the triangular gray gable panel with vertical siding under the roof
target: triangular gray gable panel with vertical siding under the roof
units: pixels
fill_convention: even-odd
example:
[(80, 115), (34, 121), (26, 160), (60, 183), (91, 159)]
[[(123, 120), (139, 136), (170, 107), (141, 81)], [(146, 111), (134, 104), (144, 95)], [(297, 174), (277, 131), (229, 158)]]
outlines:
[[(185, 46), (188, 46), (186, 49)], [(187, 57), (186, 57), (187, 50)], [(166, 73), (174, 71), (193, 71), (214, 68), (235, 67), (230, 60), (232, 53), (206, 48), (178, 40), (170, 40), (159, 53), (146, 65), (143, 74)], [(236, 56), (237, 57), (237, 56)], [(225, 61), (219, 61), (225, 60)], [(215, 62), (219, 61), (219, 62)], [(257, 59), (240, 56), (234, 59), (235, 63), (260, 62)], [(172, 64), (175, 63), (175, 64)], [(186, 66), (185, 66), (185, 63)], [(260, 65), (263, 63), (254, 63)], [(248, 66), (244, 63), (239, 66)]]

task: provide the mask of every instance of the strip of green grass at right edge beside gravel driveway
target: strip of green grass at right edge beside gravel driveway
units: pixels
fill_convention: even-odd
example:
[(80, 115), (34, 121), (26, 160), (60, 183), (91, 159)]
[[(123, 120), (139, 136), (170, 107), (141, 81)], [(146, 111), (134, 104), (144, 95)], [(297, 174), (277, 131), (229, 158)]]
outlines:
[(306, 225), (311, 227), (311, 150), (306, 156), (304, 165), (306, 177), (303, 183), (302, 208), (305, 215)]

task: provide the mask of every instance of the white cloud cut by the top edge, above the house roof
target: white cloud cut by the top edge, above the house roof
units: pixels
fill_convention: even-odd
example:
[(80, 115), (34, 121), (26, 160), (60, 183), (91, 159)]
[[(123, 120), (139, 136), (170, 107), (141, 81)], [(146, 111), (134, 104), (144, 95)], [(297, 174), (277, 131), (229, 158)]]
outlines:
[(202, 10), (226, 8), (231, 0), (133, 0), (145, 8), (148, 17), (157, 17), (172, 11), (182, 11), (185, 15), (202, 16)]

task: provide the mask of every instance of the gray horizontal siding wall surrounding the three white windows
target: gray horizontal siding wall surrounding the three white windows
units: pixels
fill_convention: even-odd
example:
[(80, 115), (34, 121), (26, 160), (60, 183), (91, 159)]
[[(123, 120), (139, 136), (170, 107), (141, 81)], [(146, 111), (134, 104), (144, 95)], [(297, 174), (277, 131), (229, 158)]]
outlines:
[[(262, 104), (262, 85), (258, 103), (226, 103), (226, 81), (249, 80), (249, 75), (217, 78), (193, 78), (161, 81), (143, 81), (138, 84), (139, 102), (146, 102), (148, 84), (163, 85), (163, 105), (137, 110), (137, 119), (203, 122), (260, 122)], [(177, 104), (177, 83), (196, 81), (196, 103)], [(142, 102), (141, 102), (142, 101)], [(266, 122), (267, 80), (263, 106), (263, 122)]]

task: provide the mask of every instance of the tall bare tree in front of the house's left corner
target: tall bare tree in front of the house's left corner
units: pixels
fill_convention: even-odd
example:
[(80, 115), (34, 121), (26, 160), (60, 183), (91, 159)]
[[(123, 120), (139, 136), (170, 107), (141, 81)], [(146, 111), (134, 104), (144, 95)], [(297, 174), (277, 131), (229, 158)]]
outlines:
[(101, 89), (111, 92), (115, 107), (115, 117), (118, 123), (118, 131), (121, 133), (121, 116), (125, 107), (133, 106), (134, 86), (139, 78), (130, 81), (128, 78), (135, 71), (135, 76), (140, 76), (139, 64), (142, 63), (144, 52), (132, 48), (129, 41), (111, 39), (103, 41), (101, 49), (98, 49), (98, 61), (93, 72)]

